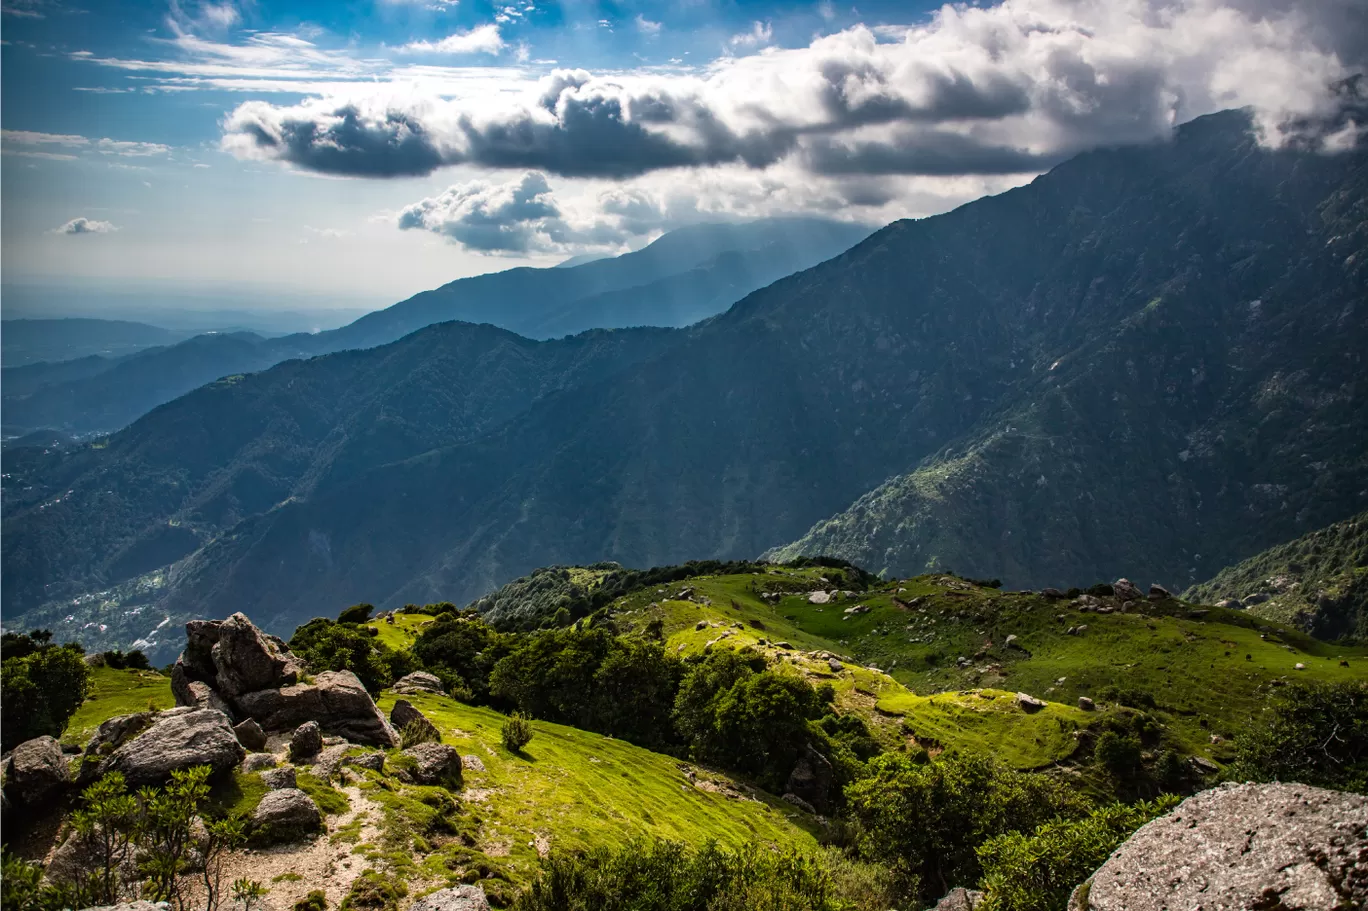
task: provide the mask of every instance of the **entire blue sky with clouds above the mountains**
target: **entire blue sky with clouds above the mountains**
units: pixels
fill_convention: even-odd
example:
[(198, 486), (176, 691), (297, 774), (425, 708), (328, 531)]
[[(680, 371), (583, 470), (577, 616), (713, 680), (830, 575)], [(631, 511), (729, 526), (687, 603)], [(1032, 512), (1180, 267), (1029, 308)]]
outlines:
[(0, 12), (3, 280), (25, 300), (382, 306), (695, 222), (933, 215), (1224, 108), (1327, 153), (1368, 126), (1346, 104), (1361, 0)]

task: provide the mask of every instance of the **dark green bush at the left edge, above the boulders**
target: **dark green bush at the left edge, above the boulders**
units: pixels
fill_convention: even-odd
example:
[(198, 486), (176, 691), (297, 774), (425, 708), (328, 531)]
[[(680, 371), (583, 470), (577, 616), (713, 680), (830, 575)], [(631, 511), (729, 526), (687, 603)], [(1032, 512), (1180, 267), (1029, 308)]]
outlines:
[(12, 657), (0, 665), (0, 748), (5, 751), (42, 735), (60, 737), (90, 689), (90, 669), (79, 646), (55, 646), (51, 635), (7, 633), (7, 640), (4, 650)]

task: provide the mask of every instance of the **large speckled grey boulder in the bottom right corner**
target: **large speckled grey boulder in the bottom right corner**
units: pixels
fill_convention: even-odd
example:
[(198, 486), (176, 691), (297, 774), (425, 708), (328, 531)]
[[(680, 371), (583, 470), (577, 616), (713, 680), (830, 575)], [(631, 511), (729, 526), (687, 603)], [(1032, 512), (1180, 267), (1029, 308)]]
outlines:
[(1142, 826), (1070, 899), (1073, 911), (1368, 907), (1368, 797), (1224, 784)]

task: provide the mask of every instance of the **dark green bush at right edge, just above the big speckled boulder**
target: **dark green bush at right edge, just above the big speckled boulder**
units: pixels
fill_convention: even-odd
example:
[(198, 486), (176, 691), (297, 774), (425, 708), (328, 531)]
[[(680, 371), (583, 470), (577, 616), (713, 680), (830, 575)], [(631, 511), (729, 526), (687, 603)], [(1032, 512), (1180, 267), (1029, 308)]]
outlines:
[(1283, 687), (1237, 739), (1228, 776), (1368, 793), (1368, 684)]

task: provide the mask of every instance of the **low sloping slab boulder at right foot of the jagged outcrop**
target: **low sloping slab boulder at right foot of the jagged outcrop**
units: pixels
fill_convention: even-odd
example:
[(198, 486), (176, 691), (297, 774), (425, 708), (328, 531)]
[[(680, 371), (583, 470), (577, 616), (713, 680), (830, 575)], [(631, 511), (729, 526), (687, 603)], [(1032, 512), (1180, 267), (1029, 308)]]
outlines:
[(384, 721), (371, 694), (350, 670), (324, 670), (312, 684), (242, 694), (237, 706), (263, 729), (293, 730), (316, 721), (324, 732), (352, 743), (397, 747), (399, 739)]

